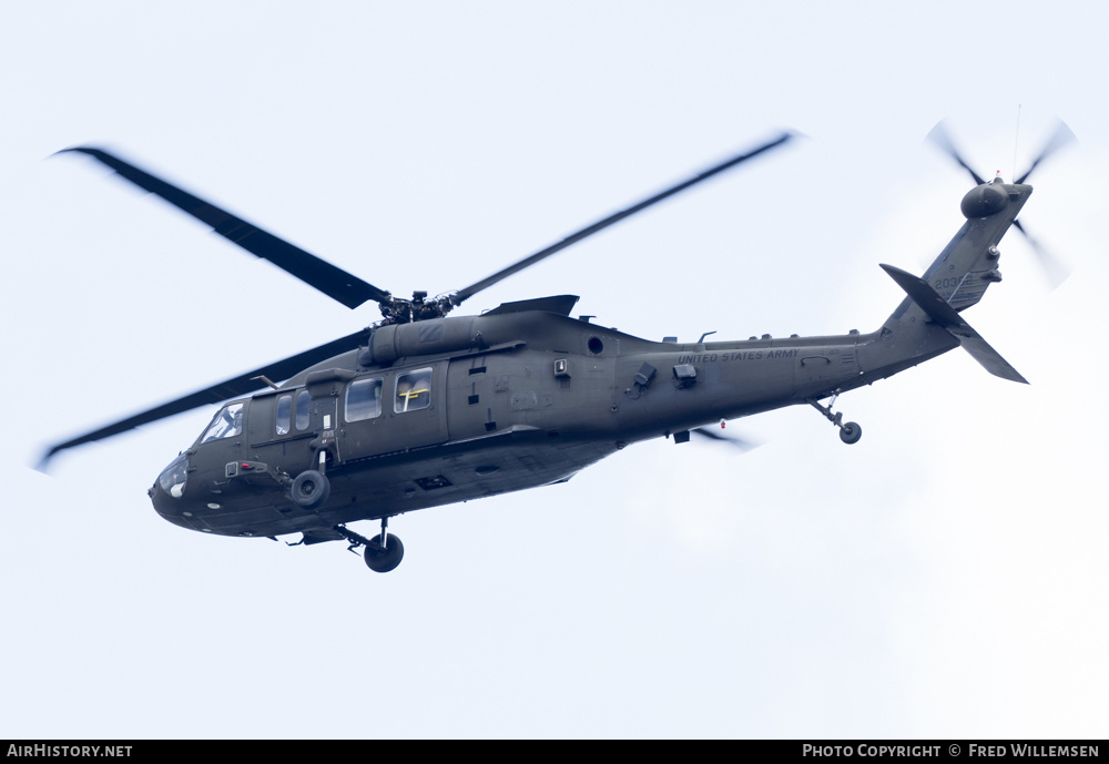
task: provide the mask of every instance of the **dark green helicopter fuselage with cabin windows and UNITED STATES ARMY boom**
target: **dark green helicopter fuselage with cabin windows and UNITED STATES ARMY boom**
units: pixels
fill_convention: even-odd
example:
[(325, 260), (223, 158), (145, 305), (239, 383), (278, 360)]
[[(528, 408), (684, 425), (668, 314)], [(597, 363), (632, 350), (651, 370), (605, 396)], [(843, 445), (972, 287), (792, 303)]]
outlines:
[[(861, 358), (878, 333), (650, 342), (569, 318), (572, 304), (551, 297), (381, 327), (366, 348), (227, 404), (155, 481), (154, 507), (203, 532), (311, 538), (560, 482), (635, 441), (681, 441), (875, 378)], [(936, 353), (957, 346), (942, 330), (935, 338)], [(319, 468), (329, 498), (303, 509), (291, 480)]]

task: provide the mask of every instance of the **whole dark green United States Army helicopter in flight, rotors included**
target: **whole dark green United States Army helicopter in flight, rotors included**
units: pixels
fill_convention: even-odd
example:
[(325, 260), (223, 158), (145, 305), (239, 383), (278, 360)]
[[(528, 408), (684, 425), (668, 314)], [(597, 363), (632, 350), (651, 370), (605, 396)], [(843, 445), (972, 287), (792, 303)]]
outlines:
[[(1068, 140), (1065, 130), (1032, 169)], [(939, 125), (932, 136), (970, 171)], [(686, 442), (691, 432), (723, 438), (708, 426), (807, 404), (854, 444), (862, 428), (833, 412), (836, 396), (959, 346), (991, 374), (1026, 381), (960, 312), (1001, 278), (997, 244), (1014, 224), (1024, 233), (1016, 217), (1032, 192), (1028, 173), (1007, 184), (1000, 177), (987, 183), (970, 171), (977, 185), (963, 198), (967, 221), (924, 276), (882, 266), (907, 296), (868, 334), (651, 342), (587, 316), (570, 318), (578, 300), (570, 295), (506, 303), (477, 316), (448, 315), (501, 279), (791, 139), (783, 133), (433, 299), (426, 292), (394, 297), (118, 156), (68, 149), (350, 308), (377, 302), (384, 318), (58, 444), (44, 461), (73, 446), (223, 404), (147, 491), (157, 513), (205, 533), (301, 533), (296, 543), (306, 544), (346, 540), (350, 549), (365, 547), (372, 570), (387, 572), (404, 556), (400, 540), (387, 532), (389, 518), (563, 482), (640, 440), (672, 436)], [(379, 520), (380, 532), (366, 538), (347, 527), (357, 520)]]

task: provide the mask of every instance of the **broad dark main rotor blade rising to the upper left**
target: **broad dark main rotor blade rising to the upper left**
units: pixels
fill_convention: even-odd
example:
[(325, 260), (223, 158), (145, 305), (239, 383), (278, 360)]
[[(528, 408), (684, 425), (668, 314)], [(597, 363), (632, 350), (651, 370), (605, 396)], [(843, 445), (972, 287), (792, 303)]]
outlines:
[(63, 149), (58, 153), (61, 154), (70, 151), (88, 154), (99, 162), (106, 164), (140, 189), (161, 196), (196, 220), (207, 223), (228, 242), (237, 244), (252, 255), (269, 261), (309, 286), (316, 287), (328, 297), (343, 303), (348, 308), (356, 308), (368, 299), (381, 302), (389, 298), (388, 292), (378, 289), (373, 284), (367, 284), (343, 268), (336, 267), (305, 252), (301, 247), (294, 246), (285, 240), (278, 238), (272, 233), (232, 215), (226, 210), (221, 210), (214, 204), (208, 204), (204, 200), (197, 198), (189, 192), (166, 183), (162, 179), (155, 177), (102, 149), (74, 146), (72, 149)]

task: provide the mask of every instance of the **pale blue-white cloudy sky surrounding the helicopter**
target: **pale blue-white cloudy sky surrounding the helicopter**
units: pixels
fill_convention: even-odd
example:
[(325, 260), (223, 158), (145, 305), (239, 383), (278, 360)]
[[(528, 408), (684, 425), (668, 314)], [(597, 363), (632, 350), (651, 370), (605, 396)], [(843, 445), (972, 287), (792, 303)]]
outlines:
[[(4, 3), (0, 736), (1109, 733), (1095, 2)], [(210, 538), (146, 487), (201, 409), (50, 444), (377, 319), (90, 160), (105, 145), (375, 285), (470, 284), (787, 126), (808, 137), (467, 303), (649, 338), (872, 330), (968, 177), (1080, 144), (954, 352), (815, 411), (397, 518), (400, 568)], [(373, 523), (362, 523), (364, 533)]]

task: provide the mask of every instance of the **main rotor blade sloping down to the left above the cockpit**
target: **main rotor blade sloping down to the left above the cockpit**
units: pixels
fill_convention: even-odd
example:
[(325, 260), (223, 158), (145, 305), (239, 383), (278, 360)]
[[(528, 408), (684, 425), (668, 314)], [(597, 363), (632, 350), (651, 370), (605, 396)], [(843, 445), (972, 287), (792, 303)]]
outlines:
[(258, 377), (265, 376), (275, 380), (288, 379), (298, 371), (303, 371), (314, 364), (327, 360), (328, 358), (337, 356), (340, 353), (356, 349), (359, 344), (365, 342), (367, 335), (368, 332), (366, 329), (359, 329), (358, 332), (349, 334), (346, 337), (339, 337), (338, 339), (334, 339), (325, 345), (321, 345), (319, 347), (314, 347), (311, 350), (298, 353), (297, 355), (283, 360), (276, 360), (261, 368), (256, 368), (253, 371), (241, 374), (237, 377), (212, 385), (203, 390), (197, 390), (196, 393), (183, 396), (176, 400), (171, 400), (167, 404), (162, 404), (161, 406), (155, 406), (152, 409), (136, 414), (133, 417), (128, 417), (126, 419), (121, 419), (120, 421), (108, 425), (106, 427), (101, 427), (99, 430), (87, 432), (85, 435), (58, 444), (57, 446), (51, 446), (42, 457), (42, 461), (39, 462), (39, 469), (41, 470), (45, 468), (47, 462), (52, 456), (58, 454), (58, 451), (65, 450), (67, 448), (73, 448), (74, 446), (80, 446), (82, 444), (102, 440), (113, 435), (119, 435), (120, 432), (134, 429), (140, 425), (146, 425), (152, 421), (157, 421), (159, 419), (165, 419), (174, 414), (190, 411), (200, 406), (204, 406), (205, 404), (218, 404), (227, 400), (228, 398), (237, 398), (238, 396), (254, 393), (255, 390), (265, 387), (265, 385), (258, 380)]

